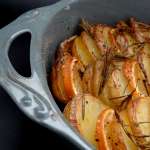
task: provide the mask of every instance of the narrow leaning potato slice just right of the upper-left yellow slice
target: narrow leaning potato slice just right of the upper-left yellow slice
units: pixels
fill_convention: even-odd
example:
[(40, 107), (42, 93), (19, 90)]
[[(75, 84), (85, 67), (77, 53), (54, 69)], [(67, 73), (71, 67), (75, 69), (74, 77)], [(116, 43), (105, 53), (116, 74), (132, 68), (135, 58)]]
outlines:
[(101, 58), (101, 51), (97, 47), (96, 42), (92, 39), (92, 37), (88, 33), (82, 32), (81, 38), (82, 38), (83, 43), (86, 45), (88, 51), (92, 55), (92, 57), (95, 60)]

